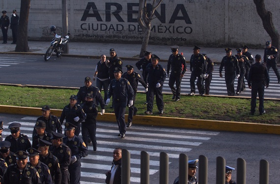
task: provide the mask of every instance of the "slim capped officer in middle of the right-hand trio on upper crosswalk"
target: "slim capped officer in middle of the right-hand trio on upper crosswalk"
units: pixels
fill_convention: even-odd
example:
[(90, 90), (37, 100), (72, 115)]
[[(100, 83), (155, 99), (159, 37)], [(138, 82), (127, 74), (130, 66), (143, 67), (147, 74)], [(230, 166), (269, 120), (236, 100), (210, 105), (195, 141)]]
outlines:
[(244, 82), (244, 76), (246, 74), (246, 63), (248, 63), (249, 58), (246, 55), (243, 55), (242, 49), (236, 49), (237, 55), (235, 57), (237, 58), (238, 65), (240, 68), (240, 77), (237, 81), (237, 89), (236, 89), (236, 95), (239, 95), (243, 92), (245, 88), (245, 82)]

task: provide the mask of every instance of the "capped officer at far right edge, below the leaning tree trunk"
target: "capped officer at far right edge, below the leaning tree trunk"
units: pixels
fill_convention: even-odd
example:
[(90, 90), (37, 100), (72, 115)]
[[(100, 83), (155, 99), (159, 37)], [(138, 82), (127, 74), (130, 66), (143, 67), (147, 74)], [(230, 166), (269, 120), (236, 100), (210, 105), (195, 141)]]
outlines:
[(280, 83), (280, 74), (277, 68), (277, 58), (278, 58), (278, 50), (276, 47), (271, 45), (270, 41), (265, 43), (266, 48), (264, 50), (263, 61), (266, 63), (267, 71), (269, 73), (269, 69), (272, 68), (276, 77), (278, 79), (278, 83)]

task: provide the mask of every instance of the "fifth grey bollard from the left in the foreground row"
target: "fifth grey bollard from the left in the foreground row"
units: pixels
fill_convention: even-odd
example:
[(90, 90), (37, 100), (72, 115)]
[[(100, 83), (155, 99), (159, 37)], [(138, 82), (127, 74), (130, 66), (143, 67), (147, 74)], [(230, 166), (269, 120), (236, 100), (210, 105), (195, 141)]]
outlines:
[(198, 161), (198, 184), (208, 184), (208, 159), (200, 155)]

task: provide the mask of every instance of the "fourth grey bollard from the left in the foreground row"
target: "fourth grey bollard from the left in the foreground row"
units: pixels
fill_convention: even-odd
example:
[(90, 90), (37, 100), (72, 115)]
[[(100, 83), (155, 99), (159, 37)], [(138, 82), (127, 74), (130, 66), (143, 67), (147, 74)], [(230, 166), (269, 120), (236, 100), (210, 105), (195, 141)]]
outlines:
[(179, 156), (179, 184), (188, 183), (188, 156), (180, 154)]

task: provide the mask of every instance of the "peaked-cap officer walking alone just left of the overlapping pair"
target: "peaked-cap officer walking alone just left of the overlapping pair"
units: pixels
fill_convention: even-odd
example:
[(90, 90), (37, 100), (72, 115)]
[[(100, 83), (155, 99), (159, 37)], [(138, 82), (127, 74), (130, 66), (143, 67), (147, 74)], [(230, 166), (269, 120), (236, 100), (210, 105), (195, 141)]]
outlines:
[[(176, 102), (180, 100), (181, 93), (181, 80), (186, 72), (186, 60), (185, 57), (178, 53), (179, 46), (172, 46), (172, 54), (169, 56), (167, 64), (167, 76), (169, 77), (169, 70), (171, 66), (171, 73), (168, 85), (171, 88), (173, 97)], [(176, 82), (176, 89), (174, 83)]]

